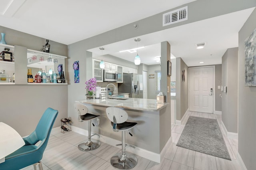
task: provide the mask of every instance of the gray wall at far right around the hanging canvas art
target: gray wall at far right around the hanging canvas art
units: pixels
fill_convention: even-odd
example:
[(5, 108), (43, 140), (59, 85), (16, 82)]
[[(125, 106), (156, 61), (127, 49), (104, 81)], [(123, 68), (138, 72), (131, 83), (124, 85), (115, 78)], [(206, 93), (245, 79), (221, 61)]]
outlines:
[(256, 87), (245, 87), (244, 41), (256, 28), (256, 10), (238, 34), (238, 152), (248, 170), (256, 167)]

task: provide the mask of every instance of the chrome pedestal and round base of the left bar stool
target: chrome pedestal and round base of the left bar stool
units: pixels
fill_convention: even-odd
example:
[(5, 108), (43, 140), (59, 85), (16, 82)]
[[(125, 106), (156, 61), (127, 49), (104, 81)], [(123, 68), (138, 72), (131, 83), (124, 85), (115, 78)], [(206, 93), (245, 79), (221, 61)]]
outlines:
[(91, 132), (91, 124), (92, 120), (88, 121), (88, 141), (85, 143), (81, 143), (78, 145), (78, 149), (82, 151), (90, 151), (98, 148), (100, 146), (99, 140), (92, 139), (92, 132)]

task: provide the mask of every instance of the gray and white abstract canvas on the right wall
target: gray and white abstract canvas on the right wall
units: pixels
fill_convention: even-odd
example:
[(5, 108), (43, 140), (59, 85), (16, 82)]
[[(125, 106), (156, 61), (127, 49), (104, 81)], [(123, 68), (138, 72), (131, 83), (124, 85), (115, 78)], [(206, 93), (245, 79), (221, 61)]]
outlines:
[(245, 86), (256, 86), (256, 29), (246, 38), (245, 50)]

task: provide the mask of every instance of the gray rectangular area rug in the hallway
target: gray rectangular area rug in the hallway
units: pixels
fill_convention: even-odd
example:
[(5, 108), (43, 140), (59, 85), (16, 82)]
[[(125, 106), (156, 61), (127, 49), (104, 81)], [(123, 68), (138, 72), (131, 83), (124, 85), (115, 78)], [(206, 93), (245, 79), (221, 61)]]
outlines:
[(231, 160), (216, 119), (190, 116), (177, 146)]

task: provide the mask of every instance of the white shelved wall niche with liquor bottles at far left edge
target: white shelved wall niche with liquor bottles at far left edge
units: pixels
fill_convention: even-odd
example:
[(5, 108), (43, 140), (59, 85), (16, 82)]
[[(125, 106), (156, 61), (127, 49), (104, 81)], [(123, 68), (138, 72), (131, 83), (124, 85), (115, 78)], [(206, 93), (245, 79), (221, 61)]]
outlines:
[(0, 44), (0, 84), (14, 84), (14, 46)]

